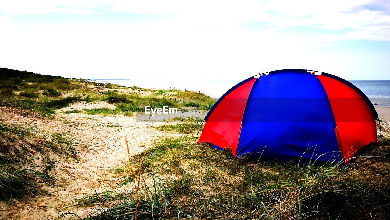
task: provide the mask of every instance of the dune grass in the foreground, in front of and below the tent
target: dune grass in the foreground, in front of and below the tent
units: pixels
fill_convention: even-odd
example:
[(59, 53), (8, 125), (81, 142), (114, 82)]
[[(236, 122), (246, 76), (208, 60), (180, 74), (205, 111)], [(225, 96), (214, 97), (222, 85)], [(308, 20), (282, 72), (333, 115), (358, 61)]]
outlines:
[[(111, 182), (110, 193), (72, 205), (93, 201), (95, 211), (85, 219), (361, 219), (385, 218), (390, 211), (384, 158), (362, 156), (347, 167), (265, 162), (193, 140), (163, 139), (112, 170), (123, 176), (118, 187), (134, 184), (135, 190), (117, 193)], [(383, 160), (386, 168), (372, 165)]]

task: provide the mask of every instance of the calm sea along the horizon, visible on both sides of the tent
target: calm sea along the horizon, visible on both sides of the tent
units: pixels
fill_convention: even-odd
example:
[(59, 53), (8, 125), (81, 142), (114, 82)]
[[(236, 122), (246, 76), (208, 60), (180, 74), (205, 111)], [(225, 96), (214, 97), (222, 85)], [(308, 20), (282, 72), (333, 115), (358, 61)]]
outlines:
[[(151, 89), (179, 89), (202, 92), (210, 97), (219, 98), (240, 81), (165, 81), (165, 80), (129, 80), (94, 79), (100, 83), (113, 83), (124, 86), (138, 86)], [(390, 80), (352, 80), (349, 81), (362, 90), (374, 106), (390, 107)]]

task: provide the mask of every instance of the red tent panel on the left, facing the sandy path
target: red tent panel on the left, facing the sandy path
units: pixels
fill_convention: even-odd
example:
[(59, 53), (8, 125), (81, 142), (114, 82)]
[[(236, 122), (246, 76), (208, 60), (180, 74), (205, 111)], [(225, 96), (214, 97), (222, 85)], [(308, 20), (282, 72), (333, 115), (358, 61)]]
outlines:
[(221, 100), (207, 118), (199, 143), (208, 142), (235, 152), (246, 100), (255, 80), (242, 84)]

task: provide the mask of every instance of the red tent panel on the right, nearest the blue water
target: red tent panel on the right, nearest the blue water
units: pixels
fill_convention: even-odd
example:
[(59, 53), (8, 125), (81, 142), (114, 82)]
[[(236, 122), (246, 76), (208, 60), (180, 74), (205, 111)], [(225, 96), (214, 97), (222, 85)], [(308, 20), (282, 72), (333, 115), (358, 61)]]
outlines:
[(328, 76), (318, 76), (335, 116), (336, 135), (345, 163), (369, 143), (376, 143), (376, 122), (366, 100), (349, 85)]

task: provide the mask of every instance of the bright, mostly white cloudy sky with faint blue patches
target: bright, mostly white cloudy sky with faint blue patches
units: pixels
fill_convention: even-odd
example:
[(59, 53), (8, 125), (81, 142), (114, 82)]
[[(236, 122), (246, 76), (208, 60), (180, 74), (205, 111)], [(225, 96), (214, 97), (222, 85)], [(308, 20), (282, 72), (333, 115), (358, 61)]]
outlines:
[(0, 0), (0, 30), (0, 67), (55, 76), (390, 80), (388, 0)]

